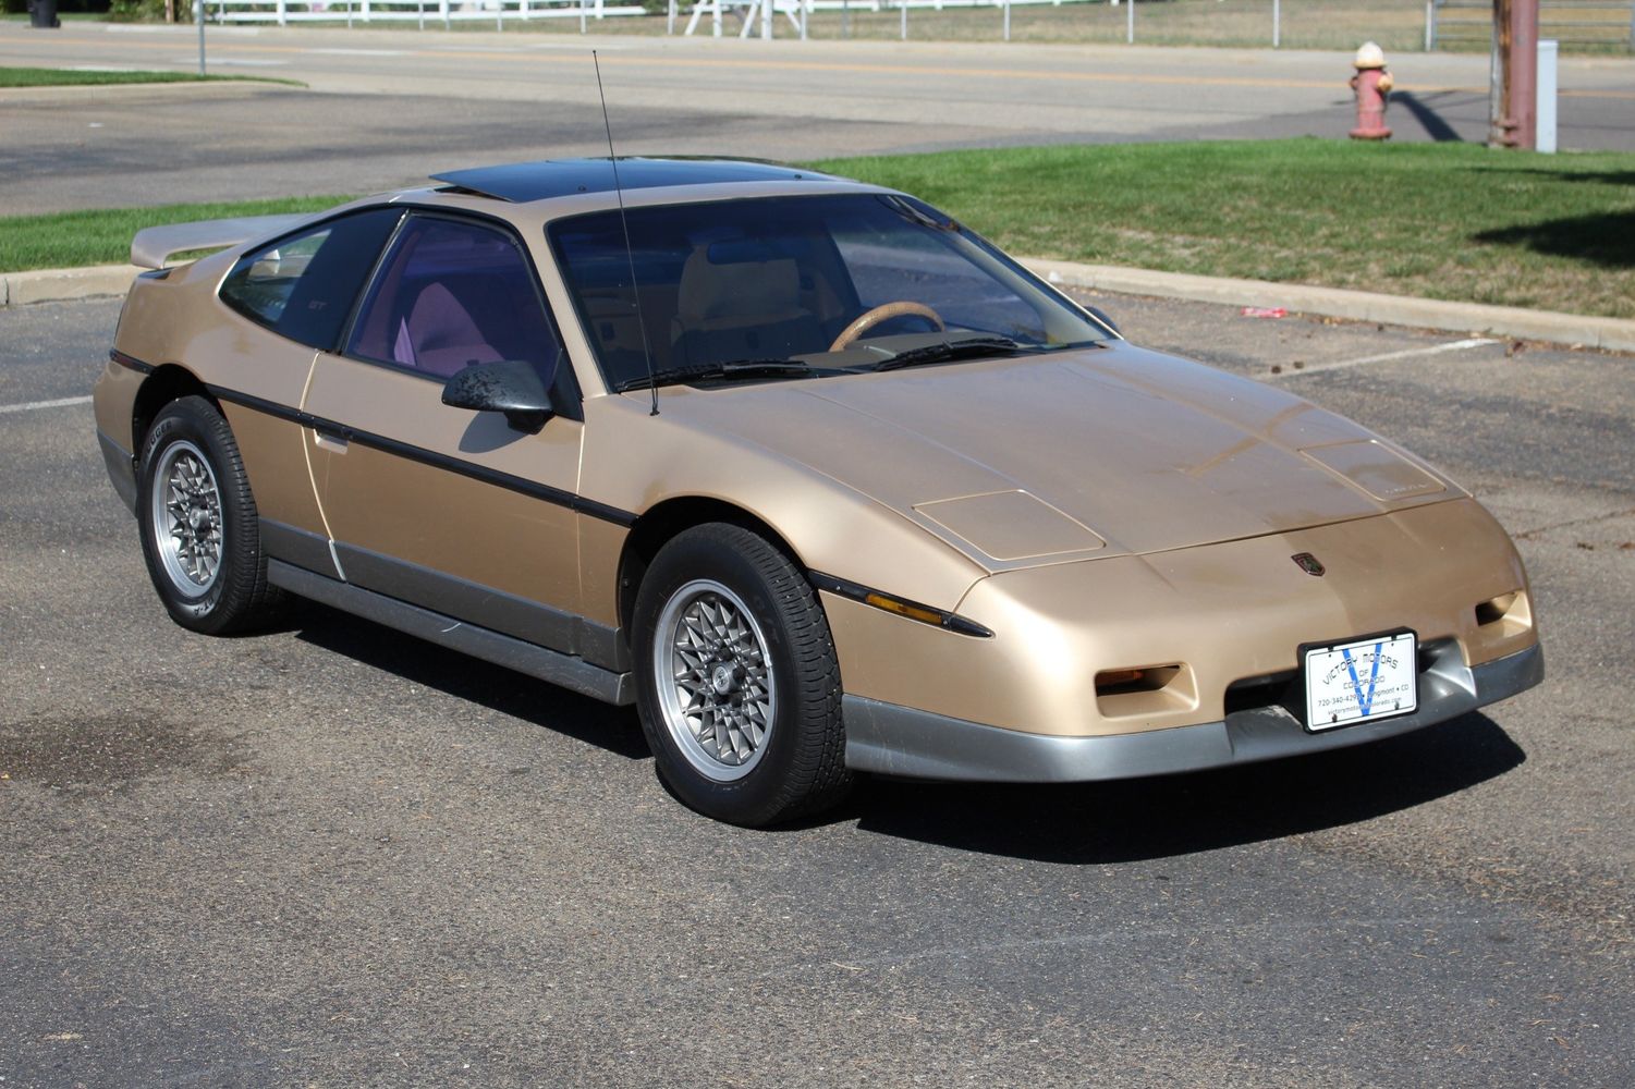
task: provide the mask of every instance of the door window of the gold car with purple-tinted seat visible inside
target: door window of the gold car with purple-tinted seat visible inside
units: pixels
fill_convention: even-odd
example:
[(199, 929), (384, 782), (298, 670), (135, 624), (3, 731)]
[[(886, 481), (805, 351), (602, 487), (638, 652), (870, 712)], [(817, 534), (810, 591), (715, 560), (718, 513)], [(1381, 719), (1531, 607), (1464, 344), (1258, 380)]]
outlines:
[(549, 383), (559, 343), (515, 237), (412, 216), (370, 286), (347, 355), (440, 381), (473, 363), (523, 360)]

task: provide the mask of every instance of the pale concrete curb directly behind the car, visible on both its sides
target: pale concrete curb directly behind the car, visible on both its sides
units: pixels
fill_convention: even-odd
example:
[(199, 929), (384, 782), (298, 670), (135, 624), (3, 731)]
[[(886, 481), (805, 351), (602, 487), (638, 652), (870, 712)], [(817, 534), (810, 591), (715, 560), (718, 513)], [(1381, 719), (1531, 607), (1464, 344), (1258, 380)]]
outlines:
[[(1589, 317), (1553, 311), (1524, 311), (1511, 306), (1480, 302), (1442, 302), (1372, 291), (1310, 288), (1297, 283), (1262, 280), (1225, 280), (1220, 276), (1187, 276), (1117, 265), (1079, 265), (1022, 258), (1051, 283), (1094, 288), (1123, 294), (1154, 294), (1164, 299), (1192, 299), (1228, 306), (1282, 306), (1300, 314), (1349, 317), (1388, 325), (1480, 332), (1521, 340), (1635, 352), (1635, 320), (1622, 317)], [(95, 265), (92, 268), (46, 268), (0, 275), (0, 306), (28, 302), (60, 302), (124, 294), (131, 280), (142, 271), (136, 265)]]

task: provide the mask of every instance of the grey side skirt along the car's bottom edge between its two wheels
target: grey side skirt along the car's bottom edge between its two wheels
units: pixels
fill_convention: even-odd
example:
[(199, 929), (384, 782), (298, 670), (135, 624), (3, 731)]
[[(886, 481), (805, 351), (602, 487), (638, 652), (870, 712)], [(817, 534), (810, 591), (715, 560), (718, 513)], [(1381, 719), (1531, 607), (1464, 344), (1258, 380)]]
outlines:
[(629, 705), (636, 701), (636, 688), (629, 674), (616, 674), (584, 659), (548, 651), (523, 639), (435, 613), (430, 608), (399, 602), (350, 582), (325, 579), (278, 559), (267, 561), (267, 580), (291, 594), (334, 605), (355, 616), (373, 620), (461, 654), (481, 657), (495, 666), (515, 669), (520, 674), (548, 680), (605, 703)]

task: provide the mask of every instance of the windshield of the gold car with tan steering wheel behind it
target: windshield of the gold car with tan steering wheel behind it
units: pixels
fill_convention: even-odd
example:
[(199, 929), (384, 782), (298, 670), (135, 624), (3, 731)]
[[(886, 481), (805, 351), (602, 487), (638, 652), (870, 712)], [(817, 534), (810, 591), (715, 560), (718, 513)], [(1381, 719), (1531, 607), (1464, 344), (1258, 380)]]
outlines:
[(821, 376), (1109, 338), (988, 242), (911, 198), (752, 198), (626, 216), (628, 252), (616, 209), (549, 227), (611, 389), (649, 384), (649, 350), (664, 384)]

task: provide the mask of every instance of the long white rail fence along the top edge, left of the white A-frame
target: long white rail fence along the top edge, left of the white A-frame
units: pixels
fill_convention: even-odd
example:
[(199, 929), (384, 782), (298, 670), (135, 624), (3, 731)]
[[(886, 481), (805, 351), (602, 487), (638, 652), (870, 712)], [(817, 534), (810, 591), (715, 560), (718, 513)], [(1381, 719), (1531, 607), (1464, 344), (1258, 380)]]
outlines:
[(206, 0), (213, 23), (451, 23), (600, 20), (643, 15), (639, 3), (605, 0)]

